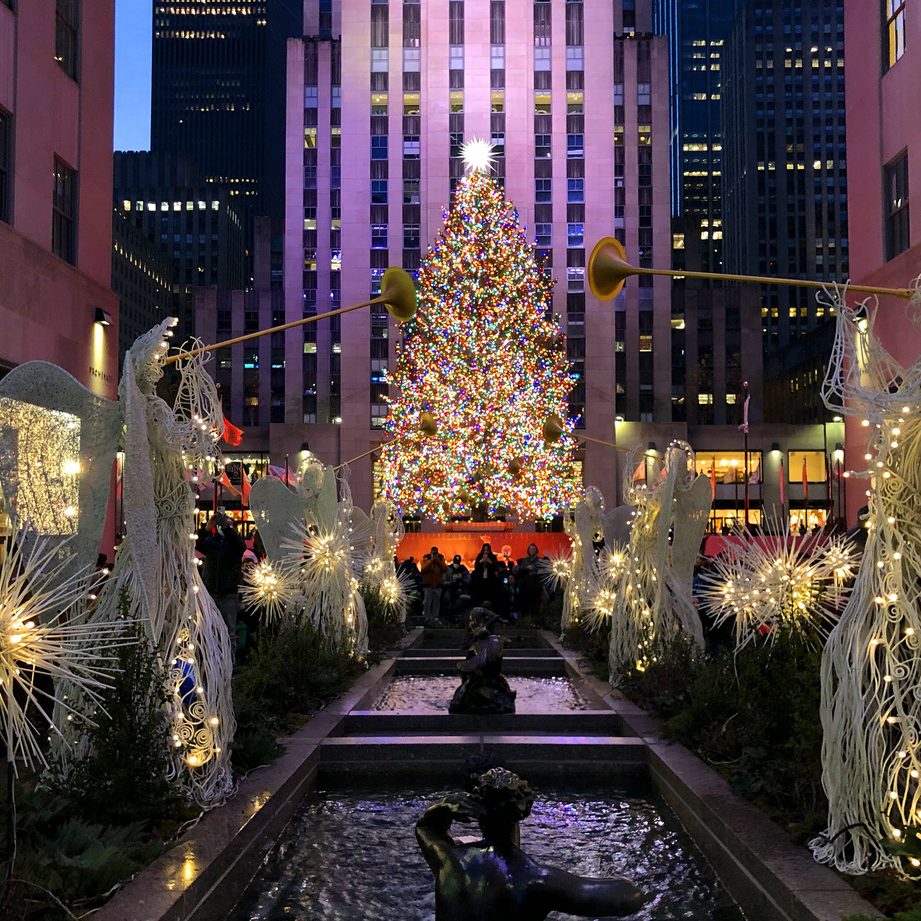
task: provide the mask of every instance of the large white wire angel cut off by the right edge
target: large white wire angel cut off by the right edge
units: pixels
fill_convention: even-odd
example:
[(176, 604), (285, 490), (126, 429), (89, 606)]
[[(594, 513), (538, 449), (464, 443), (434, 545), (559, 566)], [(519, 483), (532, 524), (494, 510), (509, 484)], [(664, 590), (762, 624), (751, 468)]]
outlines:
[[(876, 306), (846, 289), (822, 396), (869, 436), (863, 561), (822, 656), (822, 781), (828, 828), (810, 846), (845, 873), (893, 867), (921, 878), (921, 359), (900, 365), (874, 331)], [(918, 316), (916, 289), (909, 309)]]

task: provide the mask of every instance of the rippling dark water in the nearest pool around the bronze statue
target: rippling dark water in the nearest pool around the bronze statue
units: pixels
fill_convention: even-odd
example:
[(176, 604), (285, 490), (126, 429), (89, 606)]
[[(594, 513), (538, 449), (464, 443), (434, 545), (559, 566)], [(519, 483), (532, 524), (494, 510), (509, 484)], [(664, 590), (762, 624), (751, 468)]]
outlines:
[[(230, 921), (433, 921), (413, 827), (443, 792), (312, 794)], [(633, 916), (642, 921), (742, 921), (674, 819), (644, 797), (538, 791), (521, 843), (541, 863), (629, 876), (654, 894)]]

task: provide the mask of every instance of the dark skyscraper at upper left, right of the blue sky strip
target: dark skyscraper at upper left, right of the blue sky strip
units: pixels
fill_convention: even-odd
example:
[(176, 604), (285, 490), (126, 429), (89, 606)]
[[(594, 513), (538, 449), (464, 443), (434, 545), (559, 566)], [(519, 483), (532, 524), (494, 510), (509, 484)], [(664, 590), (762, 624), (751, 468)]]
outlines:
[(282, 208), (285, 39), (297, 0), (154, 3), (151, 150), (185, 155), (241, 214)]

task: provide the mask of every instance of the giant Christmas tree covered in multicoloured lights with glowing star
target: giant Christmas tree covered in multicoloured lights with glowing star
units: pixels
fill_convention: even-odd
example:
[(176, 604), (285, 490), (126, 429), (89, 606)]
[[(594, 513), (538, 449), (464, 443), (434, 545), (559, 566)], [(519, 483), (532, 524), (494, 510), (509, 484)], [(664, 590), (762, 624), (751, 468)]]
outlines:
[[(574, 493), (568, 432), (554, 444), (542, 434), (548, 417), (565, 418), (572, 387), (553, 281), (489, 175), (490, 149), (465, 145), (467, 175), (419, 271), (390, 377), (383, 491), (403, 514), (535, 519)], [(421, 437), (422, 413), (434, 437)]]

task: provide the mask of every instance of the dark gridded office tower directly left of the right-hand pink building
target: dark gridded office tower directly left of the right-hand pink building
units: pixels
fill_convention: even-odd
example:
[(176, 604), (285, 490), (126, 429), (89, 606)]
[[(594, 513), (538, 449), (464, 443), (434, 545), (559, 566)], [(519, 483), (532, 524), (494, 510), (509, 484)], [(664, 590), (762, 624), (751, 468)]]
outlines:
[[(754, 0), (723, 52), (726, 271), (848, 277), (842, 0)], [(859, 73), (859, 71), (858, 71)], [(761, 292), (765, 418), (822, 422), (831, 322), (809, 289)], [(811, 347), (795, 348), (807, 336)]]

